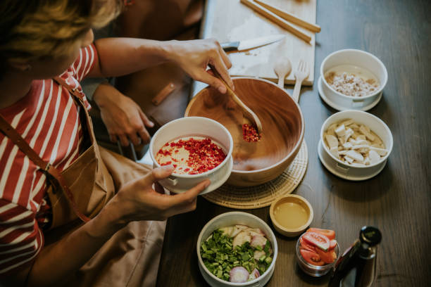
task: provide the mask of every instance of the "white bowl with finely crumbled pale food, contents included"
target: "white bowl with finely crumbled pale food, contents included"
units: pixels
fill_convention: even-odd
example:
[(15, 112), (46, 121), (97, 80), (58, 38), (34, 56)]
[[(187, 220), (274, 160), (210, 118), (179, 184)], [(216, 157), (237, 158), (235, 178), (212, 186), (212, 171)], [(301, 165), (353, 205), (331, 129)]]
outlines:
[(320, 65), (320, 97), (336, 110), (373, 108), (382, 98), (386, 84), (385, 65), (366, 51), (335, 51)]

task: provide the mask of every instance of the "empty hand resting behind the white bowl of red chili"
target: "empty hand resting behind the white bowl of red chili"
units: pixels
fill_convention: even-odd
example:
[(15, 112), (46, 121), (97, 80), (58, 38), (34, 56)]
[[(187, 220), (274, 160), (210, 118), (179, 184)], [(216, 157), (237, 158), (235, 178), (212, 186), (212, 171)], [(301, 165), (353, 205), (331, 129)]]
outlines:
[(115, 143), (119, 139), (122, 146), (129, 146), (129, 140), (135, 145), (140, 144), (141, 139), (144, 144), (149, 142), (145, 127), (154, 127), (154, 123), (135, 101), (107, 83), (99, 84), (93, 99), (100, 108), (111, 141)]

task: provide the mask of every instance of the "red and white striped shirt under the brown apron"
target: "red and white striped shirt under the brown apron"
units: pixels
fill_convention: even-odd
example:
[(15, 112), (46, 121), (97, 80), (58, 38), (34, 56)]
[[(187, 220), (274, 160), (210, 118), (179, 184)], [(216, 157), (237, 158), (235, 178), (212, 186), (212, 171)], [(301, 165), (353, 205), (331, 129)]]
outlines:
[[(96, 63), (93, 45), (81, 49), (60, 77), (80, 90), (79, 81)], [(82, 91), (82, 90), (81, 90)], [(90, 108), (82, 94), (86, 108)], [(64, 170), (80, 153), (79, 107), (53, 79), (35, 80), (28, 94), (0, 114), (39, 156)], [(0, 132), (0, 274), (32, 262), (44, 244), (42, 224), (49, 220), (46, 177), (18, 146)]]

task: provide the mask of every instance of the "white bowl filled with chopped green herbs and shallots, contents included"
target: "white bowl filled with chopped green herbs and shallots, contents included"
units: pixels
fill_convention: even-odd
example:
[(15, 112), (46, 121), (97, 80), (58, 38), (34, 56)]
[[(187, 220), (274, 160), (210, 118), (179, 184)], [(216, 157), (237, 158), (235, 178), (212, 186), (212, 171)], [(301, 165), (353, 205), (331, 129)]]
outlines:
[(196, 251), (199, 270), (210, 286), (264, 286), (273, 275), (278, 247), (262, 219), (226, 212), (204, 226)]

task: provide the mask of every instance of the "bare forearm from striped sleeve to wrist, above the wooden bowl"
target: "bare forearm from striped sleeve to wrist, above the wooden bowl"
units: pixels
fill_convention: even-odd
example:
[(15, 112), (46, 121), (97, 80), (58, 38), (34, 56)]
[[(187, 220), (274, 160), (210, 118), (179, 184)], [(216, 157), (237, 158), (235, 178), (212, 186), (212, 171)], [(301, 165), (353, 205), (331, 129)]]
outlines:
[(175, 41), (104, 38), (94, 42), (99, 62), (88, 77), (118, 77), (170, 60)]

